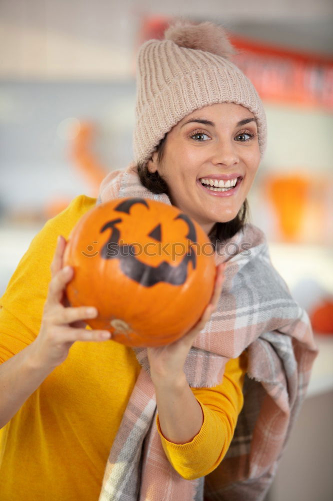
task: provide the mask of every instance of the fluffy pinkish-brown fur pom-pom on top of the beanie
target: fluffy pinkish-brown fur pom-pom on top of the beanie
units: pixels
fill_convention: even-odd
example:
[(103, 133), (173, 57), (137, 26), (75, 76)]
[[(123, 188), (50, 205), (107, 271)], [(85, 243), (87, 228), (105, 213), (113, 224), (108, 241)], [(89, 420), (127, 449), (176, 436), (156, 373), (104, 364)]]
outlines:
[(208, 21), (199, 24), (176, 21), (165, 30), (164, 39), (171, 40), (179, 47), (211, 52), (225, 59), (236, 53), (224, 28)]

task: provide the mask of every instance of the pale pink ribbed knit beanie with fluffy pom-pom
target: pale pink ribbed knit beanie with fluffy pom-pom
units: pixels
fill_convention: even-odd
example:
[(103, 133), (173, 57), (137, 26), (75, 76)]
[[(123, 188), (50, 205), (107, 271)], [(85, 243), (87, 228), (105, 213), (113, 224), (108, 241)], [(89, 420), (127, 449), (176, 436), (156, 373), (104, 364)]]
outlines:
[(234, 53), (224, 29), (213, 23), (176, 22), (164, 40), (148, 40), (137, 56), (133, 151), (146, 162), (160, 140), (185, 116), (215, 103), (241, 104), (257, 121), (261, 156), (266, 117), (247, 77), (228, 60)]

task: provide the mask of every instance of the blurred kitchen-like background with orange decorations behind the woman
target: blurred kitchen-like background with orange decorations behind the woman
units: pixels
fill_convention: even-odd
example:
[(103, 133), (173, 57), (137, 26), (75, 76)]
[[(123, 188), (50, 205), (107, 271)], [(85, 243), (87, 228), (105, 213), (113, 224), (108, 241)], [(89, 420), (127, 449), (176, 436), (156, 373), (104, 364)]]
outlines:
[[(251, 222), (319, 346), (269, 501), (329, 501), (333, 409), (331, 0), (1, 0), (0, 294), (34, 234), (132, 159), (135, 55), (173, 19), (214, 21), (260, 94)], [(329, 439), (327, 439), (329, 438)]]

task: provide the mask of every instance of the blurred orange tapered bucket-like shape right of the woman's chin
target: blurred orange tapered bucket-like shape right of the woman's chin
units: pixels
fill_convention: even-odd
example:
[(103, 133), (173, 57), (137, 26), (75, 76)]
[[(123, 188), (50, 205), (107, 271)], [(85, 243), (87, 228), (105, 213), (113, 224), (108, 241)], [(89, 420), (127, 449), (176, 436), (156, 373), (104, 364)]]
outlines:
[(272, 203), (284, 240), (294, 241), (301, 230), (310, 181), (302, 174), (271, 176), (266, 193)]

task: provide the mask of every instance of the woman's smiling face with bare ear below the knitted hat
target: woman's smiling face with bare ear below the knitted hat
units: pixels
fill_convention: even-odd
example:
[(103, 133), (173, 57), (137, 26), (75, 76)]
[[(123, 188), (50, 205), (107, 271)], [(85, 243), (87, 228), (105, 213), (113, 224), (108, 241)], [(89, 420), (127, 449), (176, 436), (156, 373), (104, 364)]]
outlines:
[(208, 233), (215, 222), (237, 215), (259, 161), (254, 115), (241, 105), (221, 103), (178, 122), (166, 136), (161, 163), (154, 152), (148, 170), (158, 171), (172, 204)]

